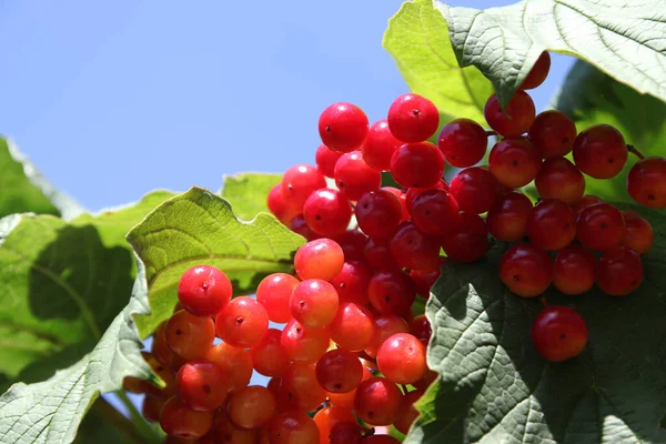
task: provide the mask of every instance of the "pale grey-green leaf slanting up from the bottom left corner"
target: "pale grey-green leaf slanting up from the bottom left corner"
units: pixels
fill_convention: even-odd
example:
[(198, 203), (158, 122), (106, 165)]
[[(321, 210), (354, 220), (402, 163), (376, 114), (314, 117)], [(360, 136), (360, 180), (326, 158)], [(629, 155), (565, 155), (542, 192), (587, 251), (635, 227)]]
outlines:
[(0, 396), (0, 442), (71, 443), (100, 393), (119, 390), (125, 376), (158, 382), (141, 356), (142, 343), (132, 321), (132, 315), (144, 313), (148, 287), (140, 264), (130, 303), (92, 352), (44, 382), (17, 383)]

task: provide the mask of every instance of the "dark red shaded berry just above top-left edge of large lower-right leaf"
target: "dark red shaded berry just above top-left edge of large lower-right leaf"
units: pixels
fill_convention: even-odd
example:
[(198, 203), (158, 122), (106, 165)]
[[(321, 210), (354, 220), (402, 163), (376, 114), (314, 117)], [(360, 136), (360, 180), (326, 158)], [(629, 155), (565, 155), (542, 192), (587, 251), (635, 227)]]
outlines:
[(461, 212), (462, 223), (455, 233), (442, 238), (444, 252), (455, 262), (470, 263), (488, 250), (488, 231), (478, 214)]

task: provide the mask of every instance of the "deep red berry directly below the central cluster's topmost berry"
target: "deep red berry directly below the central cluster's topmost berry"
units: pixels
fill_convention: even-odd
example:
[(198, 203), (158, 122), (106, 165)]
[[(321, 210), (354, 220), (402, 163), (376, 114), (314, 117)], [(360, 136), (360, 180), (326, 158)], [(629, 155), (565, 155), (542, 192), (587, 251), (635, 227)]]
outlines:
[(434, 186), (444, 173), (444, 154), (430, 142), (405, 143), (391, 158), (391, 175), (401, 186)]

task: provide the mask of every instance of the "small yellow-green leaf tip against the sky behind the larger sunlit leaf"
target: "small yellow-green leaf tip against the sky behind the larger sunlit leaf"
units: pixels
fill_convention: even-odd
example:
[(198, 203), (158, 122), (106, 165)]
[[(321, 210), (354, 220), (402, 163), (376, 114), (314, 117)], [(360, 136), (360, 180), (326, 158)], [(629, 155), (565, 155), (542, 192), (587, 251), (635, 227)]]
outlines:
[(282, 180), (282, 174), (240, 173), (224, 176), (222, 198), (233, 206), (233, 213), (245, 221), (254, 219), (260, 212), (269, 212), (266, 196)]

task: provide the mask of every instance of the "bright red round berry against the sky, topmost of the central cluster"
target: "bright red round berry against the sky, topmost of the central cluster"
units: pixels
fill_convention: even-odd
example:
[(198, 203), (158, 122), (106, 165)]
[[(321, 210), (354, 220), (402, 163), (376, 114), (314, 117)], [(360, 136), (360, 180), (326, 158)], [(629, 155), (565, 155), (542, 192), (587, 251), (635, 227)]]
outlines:
[(407, 93), (391, 103), (387, 122), (396, 139), (405, 143), (423, 142), (437, 131), (440, 111), (426, 98)]

